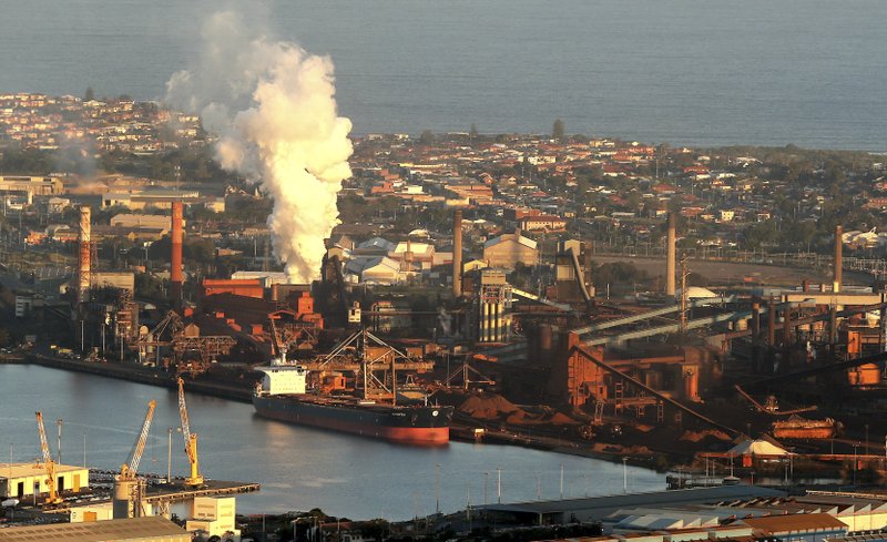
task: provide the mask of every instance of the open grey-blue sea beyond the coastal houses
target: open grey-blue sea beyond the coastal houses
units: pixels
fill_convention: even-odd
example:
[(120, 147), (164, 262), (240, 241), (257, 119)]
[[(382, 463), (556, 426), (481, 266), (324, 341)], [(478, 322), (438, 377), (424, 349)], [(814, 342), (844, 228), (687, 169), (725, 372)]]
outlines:
[(883, 0), (0, 0), (0, 92), (162, 96), (222, 7), (330, 54), (357, 133), (887, 150)]

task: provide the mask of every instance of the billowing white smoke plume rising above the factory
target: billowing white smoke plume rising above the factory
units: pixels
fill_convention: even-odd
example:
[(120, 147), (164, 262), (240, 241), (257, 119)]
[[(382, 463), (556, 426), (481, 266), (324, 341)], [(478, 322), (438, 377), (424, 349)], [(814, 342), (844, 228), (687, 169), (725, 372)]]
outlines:
[(218, 134), (223, 167), (261, 181), (274, 200), (274, 254), (290, 282), (309, 282), (351, 174), (351, 122), (337, 115), (333, 62), (251, 34), (231, 11), (212, 16), (202, 35), (197, 68), (170, 78), (166, 102)]

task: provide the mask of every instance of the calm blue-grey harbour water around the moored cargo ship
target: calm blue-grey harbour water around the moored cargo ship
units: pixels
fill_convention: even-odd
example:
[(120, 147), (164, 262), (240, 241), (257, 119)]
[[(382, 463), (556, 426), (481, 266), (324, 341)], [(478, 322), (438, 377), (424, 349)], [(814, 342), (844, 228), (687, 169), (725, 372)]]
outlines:
[[(62, 422), (62, 461), (118, 469), (141, 430), (147, 401), (157, 400), (151, 439), (140, 471), (166, 473), (167, 428), (179, 426), (176, 393), (39, 366), (0, 366), (0, 461), (10, 444), (16, 461), (40, 456), (34, 411), (41, 410), (55, 450)], [(496, 469), (502, 469), (502, 501), (564, 494), (622, 491), (622, 466), (517, 447), (452, 442), (446, 448), (395, 446), (265, 420), (249, 405), (187, 396), (191, 427), (200, 436), (202, 471), (220, 480), (262, 483), (258, 493), (238, 498), (238, 511), (285, 512), (319, 507), (351, 518), (409, 519), (435, 511), (435, 470), (440, 466), (440, 508), (463, 509), (496, 499)], [(187, 459), (181, 434), (173, 432), (173, 474), (183, 475)], [(485, 472), (489, 473), (485, 477)], [(629, 468), (629, 489), (664, 489), (664, 475)]]

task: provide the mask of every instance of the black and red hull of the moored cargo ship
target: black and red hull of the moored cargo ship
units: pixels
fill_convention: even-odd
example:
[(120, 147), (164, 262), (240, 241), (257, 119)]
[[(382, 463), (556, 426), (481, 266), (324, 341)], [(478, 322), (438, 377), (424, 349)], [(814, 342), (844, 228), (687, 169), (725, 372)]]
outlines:
[(253, 406), (265, 418), (392, 442), (440, 446), (450, 440), (452, 407), (348, 405), (288, 396), (254, 396)]

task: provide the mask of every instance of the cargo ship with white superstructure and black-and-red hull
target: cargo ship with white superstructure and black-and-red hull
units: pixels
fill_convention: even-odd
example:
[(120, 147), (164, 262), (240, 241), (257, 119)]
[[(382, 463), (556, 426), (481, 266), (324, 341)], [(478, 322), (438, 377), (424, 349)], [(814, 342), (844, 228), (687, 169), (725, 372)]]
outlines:
[(452, 407), (389, 405), (309, 392), (308, 369), (286, 361), (285, 352), (256, 370), (264, 376), (253, 393), (253, 406), (265, 418), (406, 444), (439, 446), (450, 440)]

